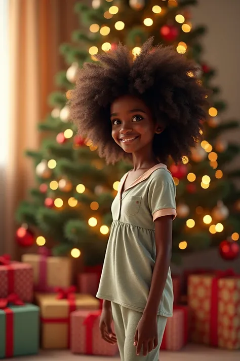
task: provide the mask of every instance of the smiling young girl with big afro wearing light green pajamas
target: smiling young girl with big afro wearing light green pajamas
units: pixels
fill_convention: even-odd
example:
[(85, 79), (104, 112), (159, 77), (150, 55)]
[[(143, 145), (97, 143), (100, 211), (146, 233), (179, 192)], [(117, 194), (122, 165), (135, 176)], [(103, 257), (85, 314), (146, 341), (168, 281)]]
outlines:
[[(102, 338), (122, 361), (156, 361), (173, 313), (170, 271), (175, 184), (166, 162), (189, 153), (207, 113), (196, 68), (152, 39), (85, 63), (71, 94), (71, 118), (108, 163), (128, 158), (112, 203), (113, 222), (97, 297)], [(202, 132), (201, 132), (202, 133)], [(111, 328), (113, 319), (114, 332)]]

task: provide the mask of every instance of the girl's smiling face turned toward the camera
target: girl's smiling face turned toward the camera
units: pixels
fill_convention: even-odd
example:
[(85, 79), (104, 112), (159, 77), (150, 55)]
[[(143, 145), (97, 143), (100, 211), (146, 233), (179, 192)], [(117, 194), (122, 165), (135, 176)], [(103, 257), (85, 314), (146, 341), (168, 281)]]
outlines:
[(152, 149), (154, 134), (158, 132), (150, 109), (134, 95), (124, 95), (111, 105), (112, 138), (126, 153)]

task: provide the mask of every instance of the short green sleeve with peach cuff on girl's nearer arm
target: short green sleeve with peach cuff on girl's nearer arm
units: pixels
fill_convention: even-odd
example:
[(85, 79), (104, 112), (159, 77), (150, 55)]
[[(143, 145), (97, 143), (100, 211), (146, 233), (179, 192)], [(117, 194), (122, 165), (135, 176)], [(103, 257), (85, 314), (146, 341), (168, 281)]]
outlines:
[(148, 189), (148, 204), (153, 221), (168, 215), (176, 218), (175, 197), (176, 187), (171, 173), (164, 168), (156, 170), (152, 174)]

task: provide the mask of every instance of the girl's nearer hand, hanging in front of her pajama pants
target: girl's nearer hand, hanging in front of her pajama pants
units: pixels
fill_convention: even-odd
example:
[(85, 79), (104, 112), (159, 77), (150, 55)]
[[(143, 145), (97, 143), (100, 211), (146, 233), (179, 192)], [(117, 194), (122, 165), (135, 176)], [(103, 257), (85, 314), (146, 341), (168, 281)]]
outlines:
[(136, 354), (139, 355), (143, 345), (143, 356), (146, 356), (154, 348), (157, 347), (157, 321), (156, 317), (142, 315), (138, 322), (134, 336), (134, 346), (136, 346)]

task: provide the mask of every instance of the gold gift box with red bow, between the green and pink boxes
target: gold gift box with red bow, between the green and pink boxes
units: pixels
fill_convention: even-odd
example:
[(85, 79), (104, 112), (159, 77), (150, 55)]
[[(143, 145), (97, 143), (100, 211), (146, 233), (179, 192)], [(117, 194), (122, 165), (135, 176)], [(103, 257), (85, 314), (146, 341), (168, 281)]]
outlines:
[(73, 287), (54, 293), (36, 293), (41, 309), (42, 348), (70, 347), (70, 314), (77, 309), (99, 308), (99, 301), (89, 294), (75, 294)]

